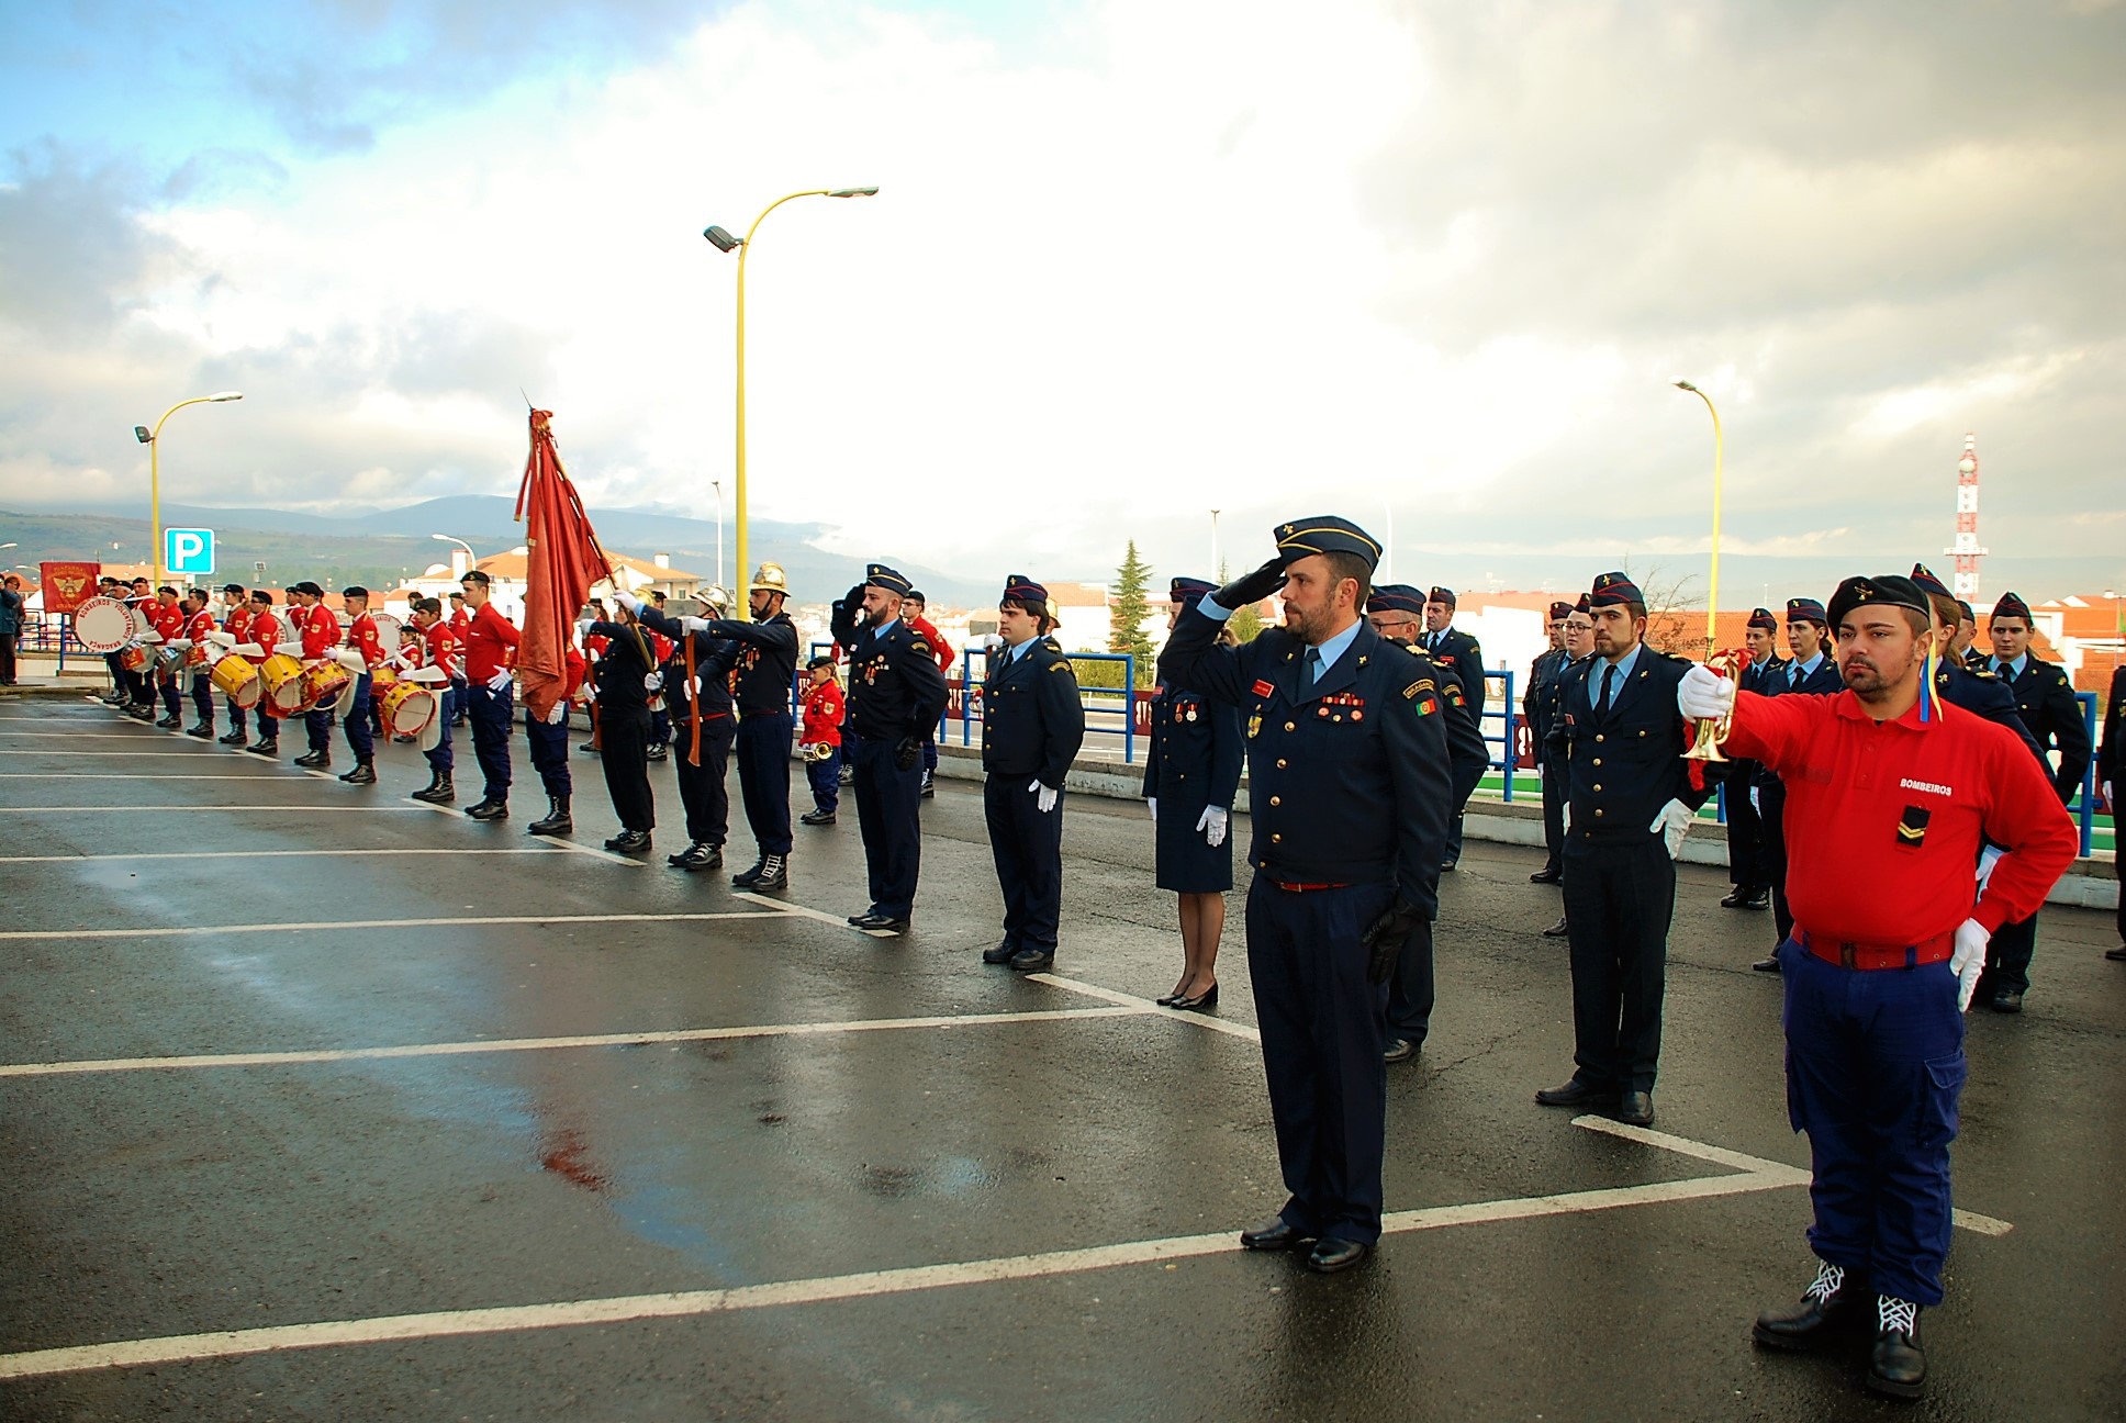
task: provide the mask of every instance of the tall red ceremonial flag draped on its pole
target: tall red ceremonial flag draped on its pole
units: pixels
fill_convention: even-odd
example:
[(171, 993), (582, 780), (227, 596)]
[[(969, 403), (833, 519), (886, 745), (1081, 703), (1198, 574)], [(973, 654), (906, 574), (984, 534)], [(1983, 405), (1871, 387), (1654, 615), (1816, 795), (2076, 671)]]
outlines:
[(525, 523), (525, 625), (517, 638), (517, 681), (525, 706), (544, 719), (568, 687), (568, 644), (591, 585), (612, 574), (583, 498), (553, 447), (553, 411), (532, 411), (532, 457), (517, 489)]

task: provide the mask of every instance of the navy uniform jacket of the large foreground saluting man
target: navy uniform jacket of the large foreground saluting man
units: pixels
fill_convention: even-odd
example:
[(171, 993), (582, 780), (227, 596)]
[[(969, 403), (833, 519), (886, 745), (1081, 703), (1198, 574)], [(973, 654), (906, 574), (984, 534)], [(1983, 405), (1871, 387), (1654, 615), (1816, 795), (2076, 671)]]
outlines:
[(1218, 621), (1188, 608), (1159, 676), (1246, 717), (1256, 872), (1286, 885), (1393, 883), (1431, 919), (1454, 810), (1439, 687), (1363, 623), (1305, 689), (1301, 651), (1282, 627), (1220, 647)]

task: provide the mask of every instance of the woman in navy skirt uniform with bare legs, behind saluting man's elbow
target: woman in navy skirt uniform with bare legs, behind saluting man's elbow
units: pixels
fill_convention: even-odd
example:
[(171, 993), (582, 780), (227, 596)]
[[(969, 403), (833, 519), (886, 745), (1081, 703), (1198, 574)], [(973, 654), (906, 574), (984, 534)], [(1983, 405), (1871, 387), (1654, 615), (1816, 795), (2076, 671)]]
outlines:
[[(1167, 630), (1197, 606), (1212, 585), (1174, 579)], [(1237, 647), (1231, 630), (1218, 640)], [(1233, 793), (1239, 789), (1239, 708), (1220, 706), (1184, 687), (1152, 691), (1152, 747), (1144, 759), (1144, 804), (1152, 813), (1154, 883), (1180, 895), (1182, 976), (1159, 1002), (1201, 1010), (1218, 1004), (1218, 938), (1225, 934), (1225, 891), (1233, 887)], [(1161, 815), (1165, 802), (1165, 815)]]

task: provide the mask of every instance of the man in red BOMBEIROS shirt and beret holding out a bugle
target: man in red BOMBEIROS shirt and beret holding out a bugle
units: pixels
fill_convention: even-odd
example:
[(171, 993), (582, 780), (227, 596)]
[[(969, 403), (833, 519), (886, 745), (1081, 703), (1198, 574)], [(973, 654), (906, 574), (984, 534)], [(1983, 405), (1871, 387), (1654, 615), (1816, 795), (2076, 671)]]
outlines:
[[(1935, 696), (1928, 615), (1911, 579), (1845, 579), (1828, 606), (1843, 691), (1737, 696), (1707, 668), (1675, 689), (1686, 717), (1733, 713), (1728, 753), (1786, 785), (1786, 1102), (1809, 1134), (1818, 1272), (1756, 1340), (1811, 1346), (1871, 1291), (1867, 1385), (1892, 1397), (1926, 1383), (1920, 1310), (1941, 1302), (1962, 1010), (1986, 940), (2037, 910), (2077, 849), (2024, 744)], [(2005, 853), (1975, 893), (1981, 840)]]

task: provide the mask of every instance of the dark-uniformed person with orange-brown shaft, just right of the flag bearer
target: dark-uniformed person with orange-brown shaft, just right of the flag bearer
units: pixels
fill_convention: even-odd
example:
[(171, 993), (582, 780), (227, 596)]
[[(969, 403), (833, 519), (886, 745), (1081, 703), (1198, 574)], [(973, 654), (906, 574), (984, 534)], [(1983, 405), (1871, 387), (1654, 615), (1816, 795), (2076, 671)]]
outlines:
[[(738, 662), (738, 642), (710, 634), (710, 625), (721, 623), (729, 610), (731, 596), (710, 585), (693, 598), (710, 617), (665, 617), (655, 606), (623, 596), (623, 604), (674, 649), (659, 676), (663, 700), (678, 719), (682, 738), (674, 770), (678, 800), (687, 810), (687, 849), (665, 855), (665, 864), (689, 872), (723, 866), (723, 840), (731, 830), (731, 793), (725, 783), (731, 768), (731, 738), (738, 730), (738, 719), (731, 715), (731, 666)], [(612, 655), (610, 649), (606, 655)]]

